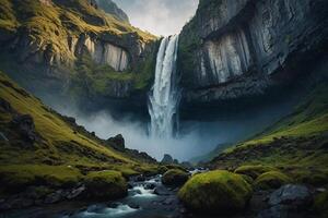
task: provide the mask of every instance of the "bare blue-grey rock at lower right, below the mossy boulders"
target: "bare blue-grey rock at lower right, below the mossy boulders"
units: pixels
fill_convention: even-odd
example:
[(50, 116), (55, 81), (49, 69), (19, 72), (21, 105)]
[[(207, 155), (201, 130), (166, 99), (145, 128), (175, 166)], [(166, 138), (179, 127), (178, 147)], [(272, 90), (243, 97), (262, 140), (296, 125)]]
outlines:
[(288, 184), (274, 191), (269, 198), (269, 205), (289, 205), (306, 207), (313, 203), (311, 191), (304, 185)]

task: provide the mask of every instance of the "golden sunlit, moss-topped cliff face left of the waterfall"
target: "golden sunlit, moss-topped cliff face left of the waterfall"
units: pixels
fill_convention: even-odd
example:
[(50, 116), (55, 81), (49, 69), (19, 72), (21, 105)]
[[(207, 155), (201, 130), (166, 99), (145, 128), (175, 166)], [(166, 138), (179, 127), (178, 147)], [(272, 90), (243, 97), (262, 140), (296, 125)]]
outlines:
[(101, 2), (1, 1), (1, 69), (36, 94), (127, 99), (148, 89), (157, 38)]

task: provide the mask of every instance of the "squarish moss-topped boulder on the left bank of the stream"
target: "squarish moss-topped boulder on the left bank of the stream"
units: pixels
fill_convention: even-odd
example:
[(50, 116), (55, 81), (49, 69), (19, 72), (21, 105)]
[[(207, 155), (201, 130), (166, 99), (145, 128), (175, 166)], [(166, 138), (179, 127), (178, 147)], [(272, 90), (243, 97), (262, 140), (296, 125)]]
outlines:
[(128, 193), (128, 184), (118, 171), (91, 172), (86, 175), (86, 198), (116, 199)]

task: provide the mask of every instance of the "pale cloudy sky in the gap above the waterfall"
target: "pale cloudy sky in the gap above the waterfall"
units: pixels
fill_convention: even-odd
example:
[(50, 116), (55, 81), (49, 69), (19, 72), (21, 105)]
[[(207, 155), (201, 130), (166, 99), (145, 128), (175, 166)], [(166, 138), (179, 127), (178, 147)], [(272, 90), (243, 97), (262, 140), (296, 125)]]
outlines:
[(114, 0), (129, 16), (133, 26), (154, 35), (180, 32), (197, 9), (199, 0)]

